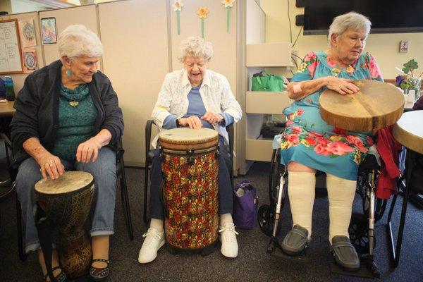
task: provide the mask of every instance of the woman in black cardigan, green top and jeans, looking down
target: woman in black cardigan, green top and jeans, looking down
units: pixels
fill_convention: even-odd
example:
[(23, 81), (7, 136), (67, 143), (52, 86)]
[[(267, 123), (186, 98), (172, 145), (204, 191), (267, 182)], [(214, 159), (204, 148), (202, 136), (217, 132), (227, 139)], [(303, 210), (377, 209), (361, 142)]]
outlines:
[[(122, 111), (109, 78), (97, 70), (103, 54), (99, 37), (83, 25), (70, 25), (58, 44), (60, 60), (27, 76), (11, 122), (16, 159), (21, 161), (16, 186), (26, 221), (26, 252), (38, 250), (44, 279), (49, 281), (32, 214), (34, 185), (42, 178), (60, 178), (68, 170), (89, 172), (95, 181), (90, 276), (101, 281), (109, 275)], [(65, 281), (56, 250), (52, 266), (56, 281)]]

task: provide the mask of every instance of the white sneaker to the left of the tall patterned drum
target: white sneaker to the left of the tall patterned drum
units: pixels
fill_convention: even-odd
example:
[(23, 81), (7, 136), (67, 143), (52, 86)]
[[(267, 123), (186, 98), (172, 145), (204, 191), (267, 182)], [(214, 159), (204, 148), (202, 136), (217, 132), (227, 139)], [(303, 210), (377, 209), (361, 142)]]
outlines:
[(148, 228), (147, 233), (144, 233), (144, 243), (142, 243), (140, 255), (138, 255), (138, 262), (140, 264), (147, 264), (152, 262), (157, 257), (157, 251), (164, 245), (164, 231), (158, 231), (156, 228)]

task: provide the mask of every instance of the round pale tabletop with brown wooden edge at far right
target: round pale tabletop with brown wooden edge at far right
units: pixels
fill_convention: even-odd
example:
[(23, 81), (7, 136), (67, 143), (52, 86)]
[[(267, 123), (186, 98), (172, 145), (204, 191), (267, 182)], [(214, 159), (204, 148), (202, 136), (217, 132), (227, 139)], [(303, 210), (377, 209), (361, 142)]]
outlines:
[(393, 137), (407, 149), (423, 154), (423, 110), (404, 113), (393, 126)]

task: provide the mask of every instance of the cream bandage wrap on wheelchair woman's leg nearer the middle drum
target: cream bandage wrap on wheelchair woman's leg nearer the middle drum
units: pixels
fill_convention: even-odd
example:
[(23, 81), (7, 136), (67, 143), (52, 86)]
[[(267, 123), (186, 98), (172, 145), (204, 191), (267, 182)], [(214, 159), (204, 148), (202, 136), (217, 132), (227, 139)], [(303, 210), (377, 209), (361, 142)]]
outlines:
[(312, 215), (316, 186), (316, 173), (289, 172), (288, 196), (293, 225), (298, 224), (308, 231), (308, 238), (312, 235)]

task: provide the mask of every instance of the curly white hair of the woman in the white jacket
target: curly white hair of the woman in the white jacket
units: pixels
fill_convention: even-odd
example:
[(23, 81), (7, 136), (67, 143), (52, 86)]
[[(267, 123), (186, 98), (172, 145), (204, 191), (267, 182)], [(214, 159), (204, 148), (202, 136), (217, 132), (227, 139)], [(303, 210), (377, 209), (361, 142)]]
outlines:
[(213, 56), (212, 42), (205, 42), (202, 37), (189, 37), (180, 44), (178, 60), (183, 63), (187, 56), (192, 58), (203, 57), (209, 61)]

